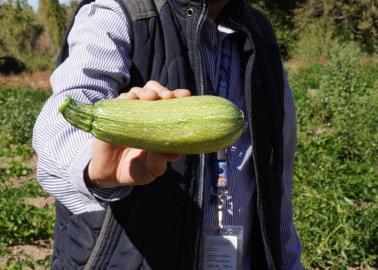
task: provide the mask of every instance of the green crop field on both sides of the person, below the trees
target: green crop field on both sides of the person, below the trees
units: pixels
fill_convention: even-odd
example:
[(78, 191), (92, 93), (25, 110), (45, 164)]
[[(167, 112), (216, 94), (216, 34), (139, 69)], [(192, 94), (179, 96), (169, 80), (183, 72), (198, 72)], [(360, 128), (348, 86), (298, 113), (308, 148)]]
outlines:
[[(290, 71), (298, 114), (295, 222), (308, 269), (378, 267), (378, 64)], [(43, 91), (0, 85), (0, 269), (45, 269), (53, 200), (31, 149)]]

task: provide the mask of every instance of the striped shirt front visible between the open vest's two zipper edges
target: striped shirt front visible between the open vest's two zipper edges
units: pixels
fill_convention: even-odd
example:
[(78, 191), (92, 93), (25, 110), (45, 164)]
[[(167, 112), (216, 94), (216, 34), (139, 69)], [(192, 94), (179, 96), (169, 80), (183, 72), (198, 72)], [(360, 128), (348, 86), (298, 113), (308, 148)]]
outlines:
[[(240, 54), (238, 41), (233, 29), (223, 25), (215, 25), (211, 21), (205, 24), (203, 32), (203, 48), (206, 59), (207, 74), (214, 94), (228, 98), (247, 115), (242, 74), (240, 70)], [(224, 55), (224, 47), (230, 55)], [(229, 59), (227, 59), (229, 58)], [(227, 63), (229, 61), (229, 63)], [(227, 68), (226, 66), (229, 66)], [(228, 73), (226, 75), (220, 75)], [(227, 76), (228, 75), (228, 76)], [(223, 78), (223, 81), (222, 79)], [(223, 84), (225, 87), (222, 87)], [(222, 89), (225, 88), (225, 89)], [(223, 90), (223, 91), (222, 91)], [(255, 190), (253, 170), (250, 168), (248, 148), (251, 146), (249, 131), (246, 128), (242, 136), (226, 150), (228, 198), (225, 203), (224, 225), (243, 226), (244, 239), (250, 239), (253, 222), (252, 198)], [(217, 204), (212, 198), (213, 186), (217, 179), (215, 155), (207, 158), (204, 183), (204, 233), (214, 233), (218, 226)], [(250, 269), (249, 241), (242, 247), (242, 269)]]

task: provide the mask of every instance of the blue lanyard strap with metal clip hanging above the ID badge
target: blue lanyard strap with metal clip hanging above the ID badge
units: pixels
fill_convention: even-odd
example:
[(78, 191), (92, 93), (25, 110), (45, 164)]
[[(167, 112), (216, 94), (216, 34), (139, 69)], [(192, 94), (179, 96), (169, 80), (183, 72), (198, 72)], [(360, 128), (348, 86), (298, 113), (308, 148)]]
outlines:
[[(219, 65), (219, 77), (216, 94), (218, 96), (228, 98), (229, 95), (229, 81), (231, 71), (232, 60), (232, 44), (227, 38), (223, 39), (220, 65)], [(217, 152), (217, 165), (218, 165), (218, 179), (216, 183), (216, 196), (217, 201), (217, 218), (218, 227), (223, 229), (223, 214), (225, 211), (225, 205), (228, 197), (228, 180), (227, 180), (227, 157), (225, 150)]]

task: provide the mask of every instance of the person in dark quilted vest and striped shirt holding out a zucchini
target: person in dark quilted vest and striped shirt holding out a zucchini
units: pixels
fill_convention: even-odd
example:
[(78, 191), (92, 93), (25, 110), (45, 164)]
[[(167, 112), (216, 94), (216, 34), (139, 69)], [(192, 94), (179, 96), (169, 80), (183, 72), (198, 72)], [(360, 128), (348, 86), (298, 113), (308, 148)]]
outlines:
[[(51, 85), (33, 147), (56, 198), (52, 269), (303, 269), (293, 97), (273, 30), (248, 1), (83, 0)], [(204, 94), (246, 116), (218, 153), (122, 148), (58, 114), (67, 97)]]

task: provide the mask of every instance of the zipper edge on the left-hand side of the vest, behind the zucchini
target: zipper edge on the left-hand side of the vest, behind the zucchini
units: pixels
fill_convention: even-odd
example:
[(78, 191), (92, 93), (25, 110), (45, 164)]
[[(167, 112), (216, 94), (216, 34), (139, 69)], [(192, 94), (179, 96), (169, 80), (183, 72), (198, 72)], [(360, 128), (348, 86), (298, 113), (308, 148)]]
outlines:
[[(200, 56), (200, 61), (199, 61), (199, 76), (200, 76), (200, 92), (199, 94), (202, 96), (205, 94), (206, 88), (207, 88), (207, 80), (206, 80), (206, 73), (205, 73), (205, 65), (206, 65), (206, 60), (204, 57), (204, 51), (203, 47), (201, 46), (201, 34), (203, 30), (203, 25), (205, 20), (208, 17), (208, 9), (207, 5), (204, 2), (201, 10), (201, 15), (198, 20), (198, 25), (197, 25), (197, 46), (198, 46), (198, 51), (199, 51), (199, 56)], [(204, 191), (204, 181), (205, 181), (205, 154), (200, 155), (200, 172), (199, 172), (199, 184), (198, 184), (198, 189), (197, 189), (197, 205), (201, 209), (203, 209), (203, 191)], [(196, 235), (196, 243), (195, 243), (195, 253), (194, 253), (194, 268), (195, 269), (200, 269), (200, 252), (201, 252), (201, 239), (202, 239), (202, 224), (203, 223), (203, 216), (199, 217), (199, 222), (198, 222), (198, 228), (197, 228), (197, 235)]]

